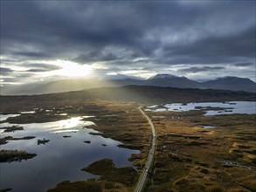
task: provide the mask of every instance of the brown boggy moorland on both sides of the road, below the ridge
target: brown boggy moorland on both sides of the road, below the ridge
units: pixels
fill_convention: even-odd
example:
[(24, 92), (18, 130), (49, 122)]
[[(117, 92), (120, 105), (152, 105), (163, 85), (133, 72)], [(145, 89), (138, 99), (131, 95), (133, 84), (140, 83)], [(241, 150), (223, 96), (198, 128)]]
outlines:
[[(10, 103), (9, 103), (10, 104)], [(151, 130), (133, 102), (44, 100), (22, 101), (15, 107), (1, 104), (1, 113), (19, 113), (36, 109), (34, 114), (21, 114), (6, 121), (12, 123), (49, 122), (80, 115), (94, 115), (93, 129), (102, 136), (121, 141), (121, 147), (136, 148), (130, 161), (138, 170), (149, 151)], [(50, 111), (49, 111), (50, 110)], [(67, 113), (66, 116), (56, 115)], [(146, 191), (255, 191), (255, 114), (204, 116), (203, 112), (147, 112), (156, 125), (157, 149), (153, 171)], [(86, 119), (90, 120), (90, 119)], [(205, 129), (209, 125), (215, 128)], [(47, 139), (47, 138), (46, 138)], [(9, 139), (6, 141), (10, 141)], [(100, 161), (102, 162), (102, 161)], [(104, 162), (104, 161), (103, 161)], [(104, 164), (104, 163), (103, 163)], [(120, 170), (98, 173), (100, 180), (61, 182), (58, 191), (132, 191), (136, 182), (113, 178)], [(134, 174), (129, 168), (126, 175)], [(91, 169), (92, 173), (95, 171)], [(136, 173), (135, 178), (139, 176)], [(57, 183), (56, 183), (57, 184)]]

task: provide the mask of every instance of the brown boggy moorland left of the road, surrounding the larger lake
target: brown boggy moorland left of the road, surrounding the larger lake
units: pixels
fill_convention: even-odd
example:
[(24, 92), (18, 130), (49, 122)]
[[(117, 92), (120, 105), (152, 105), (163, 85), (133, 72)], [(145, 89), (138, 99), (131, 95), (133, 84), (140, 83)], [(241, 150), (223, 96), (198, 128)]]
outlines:
[[(19, 105), (15, 108), (3, 106), (4, 113), (19, 113), (21, 111), (32, 111), (35, 113), (22, 113), (20, 116), (9, 118), (2, 122), (10, 123), (33, 123), (49, 122), (54, 120), (63, 120), (77, 116), (93, 116), (86, 118), (92, 120), (96, 126), (93, 129), (100, 132), (100, 135), (112, 138), (115, 141), (121, 141), (120, 147), (127, 147), (141, 150), (141, 154), (134, 154), (129, 159), (137, 165), (137, 170), (132, 167), (114, 168), (111, 160), (98, 162), (97, 166), (107, 172), (98, 172), (93, 165), (85, 168), (84, 171), (100, 175), (99, 180), (78, 181), (78, 182), (60, 182), (56, 187), (49, 189), (55, 191), (133, 191), (140, 175), (140, 168), (143, 167), (146, 160), (150, 139), (151, 129), (148, 121), (144, 119), (142, 113), (138, 110), (138, 105), (133, 102), (111, 102), (111, 101), (59, 101), (55, 104), (45, 103), (44, 106), (31, 103)], [(3, 104), (4, 105), (4, 104)], [(2, 112), (3, 113), (3, 112)], [(56, 115), (67, 113), (64, 115)], [(25, 127), (24, 127), (25, 129)], [(3, 138), (4, 139), (4, 138)], [(4, 139), (10, 141), (11, 137)], [(47, 138), (45, 138), (47, 140)], [(4, 142), (3, 142), (4, 144)], [(118, 154), (117, 154), (118, 155)], [(102, 164), (102, 165), (101, 165)], [(81, 168), (82, 169), (82, 168)], [(82, 171), (82, 170), (81, 170)], [(96, 171), (96, 172), (95, 172)]]

